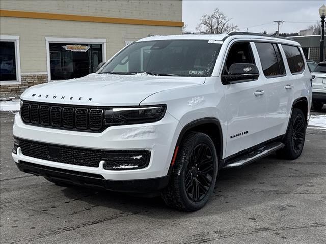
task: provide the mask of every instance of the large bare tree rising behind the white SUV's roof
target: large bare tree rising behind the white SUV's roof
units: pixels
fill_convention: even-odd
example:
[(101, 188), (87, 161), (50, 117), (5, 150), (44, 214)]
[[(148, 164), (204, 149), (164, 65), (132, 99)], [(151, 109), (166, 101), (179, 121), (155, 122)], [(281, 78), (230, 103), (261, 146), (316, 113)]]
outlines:
[(200, 33), (229, 33), (237, 31), (238, 26), (230, 23), (232, 18), (228, 18), (218, 8), (211, 15), (204, 14), (196, 30)]

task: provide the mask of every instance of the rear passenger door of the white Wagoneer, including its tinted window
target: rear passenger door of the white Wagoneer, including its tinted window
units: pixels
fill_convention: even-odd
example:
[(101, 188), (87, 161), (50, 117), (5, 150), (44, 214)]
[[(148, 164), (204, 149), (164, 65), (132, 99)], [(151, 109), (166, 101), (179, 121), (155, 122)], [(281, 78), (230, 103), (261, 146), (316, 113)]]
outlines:
[(266, 128), (264, 134), (272, 139), (285, 133), (293, 101), (293, 79), (287, 75), (281, 46), (273, 42), (255, 41), (259, 56), (261, 80), (265, 84)]

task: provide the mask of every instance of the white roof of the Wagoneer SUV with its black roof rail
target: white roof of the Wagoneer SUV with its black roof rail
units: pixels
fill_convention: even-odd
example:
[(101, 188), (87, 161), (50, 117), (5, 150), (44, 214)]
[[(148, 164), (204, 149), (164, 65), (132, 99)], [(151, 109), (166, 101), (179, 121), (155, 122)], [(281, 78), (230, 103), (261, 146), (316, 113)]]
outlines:
[(250, 39), (264, 39), (277, 41), (279, 43), (287, 43), (291, 45), (299, 46), (296, 41), (289, 38), (266, 35), (261, 33), (251, 33), (251, 32), (233, 32), (230, 34), (183, 34), (183, 35), (154, 35), (150, 37), (145, 37), (137, 42), (145, 41), (158, 41), (158, 40), (218, 40), (224, 41), (227, 38), (250, 38)]

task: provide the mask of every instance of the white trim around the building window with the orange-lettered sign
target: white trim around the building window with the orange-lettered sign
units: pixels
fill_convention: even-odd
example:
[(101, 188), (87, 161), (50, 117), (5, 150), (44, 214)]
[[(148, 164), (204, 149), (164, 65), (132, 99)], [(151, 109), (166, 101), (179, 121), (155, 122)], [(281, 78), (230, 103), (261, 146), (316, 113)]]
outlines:
[(107, 39), (98, 38), (71, 38), (71, 37), (45, 37), (46, 41), (46, 69), (47, 69), (47, 81), (51, 80), (51, 63), (50, 63), (50, 43), (89, 43), (89, 44), (101, 44), (102, 45), (102, 57), (106, 63), (106, 42)]

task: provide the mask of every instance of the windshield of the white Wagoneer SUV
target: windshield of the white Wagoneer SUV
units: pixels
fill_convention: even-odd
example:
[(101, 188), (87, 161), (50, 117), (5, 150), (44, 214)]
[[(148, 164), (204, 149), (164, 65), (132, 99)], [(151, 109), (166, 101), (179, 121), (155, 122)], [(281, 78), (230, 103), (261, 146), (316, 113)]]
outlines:
[(211, 76), (222, 44), (210, 40), (135, 42), (101, 70), (102, 73), (144, 73), (167, 76)]

